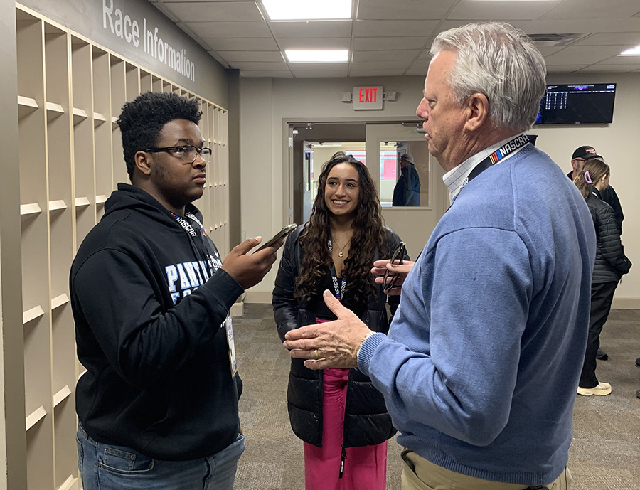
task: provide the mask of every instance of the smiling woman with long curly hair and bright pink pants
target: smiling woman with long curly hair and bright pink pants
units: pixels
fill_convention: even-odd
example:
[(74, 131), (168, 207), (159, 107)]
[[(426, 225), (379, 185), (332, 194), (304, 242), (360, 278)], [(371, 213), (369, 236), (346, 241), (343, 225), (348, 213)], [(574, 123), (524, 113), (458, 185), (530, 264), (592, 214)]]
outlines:
[[(372, 331), (389, 328), (398, 297), (374, 282), (370, 265), (400, 238), (383, 225), (378, 194), (361, 163), (339, 151), (324, 164), (309, 223), (287, 238), (273, 289), (280, 339), (336, 316), (324, 289)], [(404, 255), (404, 254), (403, 254)], [(311, 371), (292, 359), (287, 390), (294, 433), (304, 441), (306, 490), (384, 490), (387, 440), (395, 434), (383, 395), (356, 369)]]

